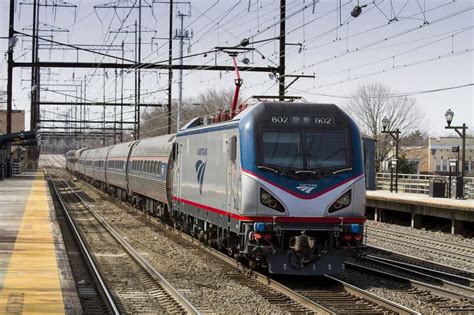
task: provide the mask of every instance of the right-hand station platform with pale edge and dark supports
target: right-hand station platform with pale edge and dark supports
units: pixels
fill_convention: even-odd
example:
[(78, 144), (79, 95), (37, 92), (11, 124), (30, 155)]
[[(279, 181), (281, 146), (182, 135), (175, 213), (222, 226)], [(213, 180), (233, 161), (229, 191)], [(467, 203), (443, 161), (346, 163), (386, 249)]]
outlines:
[(474, 222), (474, 200), (433, 198), (420, 194), (368, 190), (367, 207), (375, 209), (374, 220), (381, 221), (383, 210), (411, 213), (411, 227), (421, 227), (422, 216), (451, 220), (451, 233), (462, 233), (464, 222)]

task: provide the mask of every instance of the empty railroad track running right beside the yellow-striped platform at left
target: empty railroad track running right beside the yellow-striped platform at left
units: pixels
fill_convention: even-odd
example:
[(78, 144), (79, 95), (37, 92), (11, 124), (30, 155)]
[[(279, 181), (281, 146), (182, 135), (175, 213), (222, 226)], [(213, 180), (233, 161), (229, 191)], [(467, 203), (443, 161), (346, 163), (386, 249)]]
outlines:
[(76, 229), (95, 237), (89, 238), (85, 247), (94, 249), (100, 269), (108, 271), (103, 282), (112, 287), (111, 299), (120, 301), (117, 313), (200, 313), (64, 180), (50, 177), (64, 207), (74, 212), (71, 221), (80, 225)]

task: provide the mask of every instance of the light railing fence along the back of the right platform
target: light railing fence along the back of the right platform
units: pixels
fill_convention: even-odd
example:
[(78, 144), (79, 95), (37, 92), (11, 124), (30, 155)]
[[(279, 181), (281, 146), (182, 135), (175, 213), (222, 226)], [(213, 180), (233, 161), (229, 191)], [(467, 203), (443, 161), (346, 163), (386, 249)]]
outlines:
[[(393, 175), (395, 177), (395, 174)], [(434, 178), (446, 180), (449, 185), (449, 177), (441, 175), (419, 175), (398, 174), (398, 192), (410, 194), (429, 195), (430, 181)], [(395, 178), (393, 180), (395, 185)], [(456, 177), (451, 178), (451, 187), (456, 187)], [(390, 190), (390, 173), (377, 173), (377, 190)], [(446, 191), (448, 187), (446, 187)], [(474, 199), (474, 177), (464, 177), (464, 195), (468, 199)], [(455, 196), (455, 193), (452, 194)]]

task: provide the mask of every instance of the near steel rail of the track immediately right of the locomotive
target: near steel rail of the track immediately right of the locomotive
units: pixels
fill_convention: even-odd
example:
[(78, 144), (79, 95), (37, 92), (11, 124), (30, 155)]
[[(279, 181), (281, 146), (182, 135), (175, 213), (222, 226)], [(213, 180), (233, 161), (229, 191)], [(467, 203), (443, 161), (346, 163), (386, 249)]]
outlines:
[(351, 269), (351, 270), (363, 272), (363, 273), (366, 273), (366, 274), (372, 274), (372, 275), (376, 275), (378, 277), (390, 279), (392, 281), (405, 283), (405, 284), (408, 284), (408, 285), (410, 285), (414, 288), (417, 288), (417, 289), (420, 289), (420, 290), (426, 290), (426, 291), (431, 292), (434, 295), (447, 297), (447, 298), (450, 298), (450, 299), (453, 299), (453, 300), (458, 301), (458, 300), (461, 300), (461, 299), (467, 299), (467, 300), (470, 300), (470, 301), (474, 301), (473, 296), (466, 296), (466, 295), (460, 294), (459, 292), (454, 292), (454, 291), (448, 290), (448, 289), (443, 288), (443, 287), (438, 287), (438, 286), (435, 286), (435, 285), (423, 283), (423, 282), (418, 281), (418, 280), (413, 280), (413, 279), (410, 279), (410, 278), (407, 278), (407, 277), (395, 275), (395, 274), (392, 274), (392, 273), (389, 273), (389, 272), (386, 272), (386, 271), (376, 270), (376, 269), (373, 269), (373, 268), (370, 268), (370, 267), (362, 266), (360, 264), (356, 264), (356, 263), (352, 263), (352, 262), (346, 262), (346, 269)]

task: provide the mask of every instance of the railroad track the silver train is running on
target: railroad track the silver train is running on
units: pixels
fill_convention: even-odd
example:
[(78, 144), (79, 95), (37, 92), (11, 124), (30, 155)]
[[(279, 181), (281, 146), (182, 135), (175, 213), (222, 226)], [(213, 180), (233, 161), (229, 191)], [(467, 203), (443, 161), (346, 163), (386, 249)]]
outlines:
[[(91, 189), (97, 191), (92, 186)], [(102, 193), (102, 192), (100, 192)], [(118, 207), (123, 208), (124, 204), (112, 201)], [(128, 209), (141, 213), (141, 211), (126, 206)], [(185, 240), (193, 247), (199, 247), (211, 255), (207, 255), (209, 262), (216, 262), (216, 258), (225, 263), (223, 267), (226, 277), (234, 282), (246, 286), (260, 296), (265, 298), (270, 304), (278, 306), (288, 313), (318, 313), (318, 314), (339, 314), (339, 313), (367, 313), (367, 314), (413, 314), (417, 313), (409, 308), (403, 307), (381, 297), (375, 296), (365, 290), (356, 288), (335, 278), (326, 277), (325, 282), (330, 282), (326, 287), (310, 286), (302, 288), (300, 286), (289, 287), (288, 279), (275, 279), (264, 274), (252, 271), (229, 256), (211, 247), (203, 245), (193, 237), (180, 233), (170, 226), (161, 223), (158, 219), (149, 217), (155, 224), (165, 228), (170, 234), (178, 236), (181, 241)], [(153, 250), (151, 244), (143, 244), (147, 250)], [(287, 277), (288, 278), (288, 277)], [(287, 285), (288, 284), (288, 285)]]

